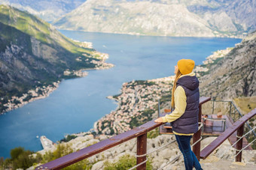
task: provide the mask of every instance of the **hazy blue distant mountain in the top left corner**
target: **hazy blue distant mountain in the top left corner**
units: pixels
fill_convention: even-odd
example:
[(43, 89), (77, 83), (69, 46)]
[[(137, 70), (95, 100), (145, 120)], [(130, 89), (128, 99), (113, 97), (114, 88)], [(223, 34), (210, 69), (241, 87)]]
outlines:
[(84, 1), (86, 0), (0, 0), (0, 4), (8, 4), (20, 10), (26, 10), (47, 22), (53, 22), (53, 20), (74, 10)]

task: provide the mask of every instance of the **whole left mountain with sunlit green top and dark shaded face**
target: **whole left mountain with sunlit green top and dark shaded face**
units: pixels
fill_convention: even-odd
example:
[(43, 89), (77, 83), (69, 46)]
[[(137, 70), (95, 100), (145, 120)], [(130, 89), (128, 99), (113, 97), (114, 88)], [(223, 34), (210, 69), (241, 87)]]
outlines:
[(105, 55), (86, 45), (36, 16), (0, 5), (0, 112), (11, 99), (20, 103), (14, 96), (75, 77), (77, 70), (104, 65)]

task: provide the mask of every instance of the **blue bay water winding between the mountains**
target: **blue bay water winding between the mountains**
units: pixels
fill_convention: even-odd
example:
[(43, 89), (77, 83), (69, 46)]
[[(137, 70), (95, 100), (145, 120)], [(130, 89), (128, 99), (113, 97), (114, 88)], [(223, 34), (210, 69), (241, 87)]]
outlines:
[(218, 49), (226, 49), (240, 39), (203, 37), (150, 37), (125, 34), (61, 31), (74, 40), (93, 42), (99, 52), (109, 54), (109, 70), (90, 70), (84, 78), (68, 79), (50, 97), (36, 100), (0, 116), (0, 157), (10, 157), (11, 148), (41, 150), (36, 136), (53, 142), (66, 134), (87, 132), (93, 123), (117, 105), (106, 97), (119, 94), (123, 82), (156, 79), (173, 75), (181, 58), (202, 64)]

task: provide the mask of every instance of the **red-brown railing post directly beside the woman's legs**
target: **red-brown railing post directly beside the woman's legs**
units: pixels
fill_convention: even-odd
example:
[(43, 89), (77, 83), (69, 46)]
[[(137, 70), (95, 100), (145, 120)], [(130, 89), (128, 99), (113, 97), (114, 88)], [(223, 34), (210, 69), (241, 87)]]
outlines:
[[(200, 105), (198, 122), (201, 122), (201, 118), (202, 118), (202, 106)], [(200, 138), (201, 138), (201, 129), (194, 134), (193, 143), (197, 142)], [(196, 155), (198, 161), (200, 161), (200, 149), (201, 149), (201, 142), (197, 142), (197, 144), (193, 146), (193, 152)]]

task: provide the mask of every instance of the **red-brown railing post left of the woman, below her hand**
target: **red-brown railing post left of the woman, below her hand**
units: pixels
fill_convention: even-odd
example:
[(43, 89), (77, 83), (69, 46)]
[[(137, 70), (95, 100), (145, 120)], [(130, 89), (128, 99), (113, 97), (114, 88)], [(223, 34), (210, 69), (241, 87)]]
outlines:
[[(147, 154), (147, 133), (143, 134), (142, 136), (137, 137), (137, 155), (144, 155)], [(145, 161), (147, 157), (137, 157), (137, 165)], [(143, 163), (141, 166), (137, 167), (137, 170), (145, 170), (146, 163)]]

